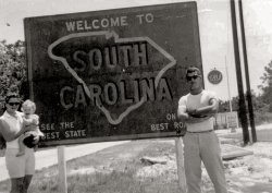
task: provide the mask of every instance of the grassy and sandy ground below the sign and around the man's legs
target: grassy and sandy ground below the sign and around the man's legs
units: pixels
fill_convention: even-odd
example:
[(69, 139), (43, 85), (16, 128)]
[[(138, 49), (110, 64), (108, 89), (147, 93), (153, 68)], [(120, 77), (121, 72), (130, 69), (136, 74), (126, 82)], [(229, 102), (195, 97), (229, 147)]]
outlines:
[[(254, 154), (223, 161), (230, 193), (271, 193), (271, 145), (258, 142), (242, 147)], [(156, 161), (145, 161), (145, 157)], [(202, 169), (202, 192), (214, 193)], [(71, 193), (175, 193), (178, 190), (175, 142), (173, 138), (132, 141), (72, 159), (67, 161), (67, 184)], [(35, 174), (30, 192), (57, 193), (58, 186), (58, 167), (52, 166)], [(0, 182), (0, 192), (7, 190), (9, 181)]]

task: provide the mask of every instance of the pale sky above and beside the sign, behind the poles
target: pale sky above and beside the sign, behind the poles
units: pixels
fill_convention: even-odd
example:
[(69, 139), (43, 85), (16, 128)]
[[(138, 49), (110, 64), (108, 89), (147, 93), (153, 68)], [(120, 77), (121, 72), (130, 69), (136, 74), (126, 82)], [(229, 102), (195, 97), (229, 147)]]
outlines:
[[(217, 92), (220, 99), (227, 100), (228, 96), (237, 96), (230, 0), (196, 1), (205, 86)], [(185, 0), (0, 0), (0, 40), (25, 40), (24, 17), (172, 2)], [(272, 0), (244, 0), (243, 8), (250, 87), (259, 94), (258, 85), (262, 84), (260, 77), (264, 73), (264, 67), (272, 60)], [(242, 55), (242, 64), (243, 61)], [(207, 79), (213, 69), (223, 74), (223, 80), (218, 85), (209, 83)], [(244, 89), (246, 91), (246, 85)]]

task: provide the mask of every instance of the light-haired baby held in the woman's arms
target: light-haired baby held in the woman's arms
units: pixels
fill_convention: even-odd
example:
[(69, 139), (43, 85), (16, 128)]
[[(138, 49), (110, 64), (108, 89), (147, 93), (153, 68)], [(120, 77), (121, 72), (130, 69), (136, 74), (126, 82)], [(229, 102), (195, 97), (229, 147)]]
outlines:
[(44, 136), (44, 133), (39, 130), (39, 116), (35, 114), (35, 110), (36, 110), (36, 105), (32, 101), (32, 100), (25, 100), (22, 105), (22, 111), (24, 112), (24, 125), (30, 125), (34, 124), (36, 125), (36, 130), (34, 131), (28, 131), (25, 132), (24, 134), (22, 134), (18, 137), (18, 153), (17, 153), (17, 157), (18, 156), (23, 156), (25, 154), (25, 145), (24, 145), (24, 140), (32, 136), (32, 137), (36, 137), (36, 136)]

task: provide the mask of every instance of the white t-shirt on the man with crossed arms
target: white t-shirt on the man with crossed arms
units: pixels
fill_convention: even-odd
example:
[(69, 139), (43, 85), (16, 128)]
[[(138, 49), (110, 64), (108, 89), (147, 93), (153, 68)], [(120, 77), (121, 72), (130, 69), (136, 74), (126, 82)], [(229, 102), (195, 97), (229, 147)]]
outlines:
[[(181, 97), (178, 100), (178, 108), (197, 109), (210, 105), (211, 99), (218, 99), (215, 93), (209, 91), (202, 91), (198, 95), (191, 95), (190, 93)], [(201, 132), (213, 130), (213, 117), (198, 123), (186, 123), (187, 131), (189, 132)]]

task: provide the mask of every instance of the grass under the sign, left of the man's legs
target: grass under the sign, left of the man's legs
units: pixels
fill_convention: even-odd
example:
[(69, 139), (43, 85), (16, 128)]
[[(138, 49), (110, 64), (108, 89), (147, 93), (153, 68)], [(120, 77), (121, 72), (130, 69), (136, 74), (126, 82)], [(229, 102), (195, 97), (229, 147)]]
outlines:
[[(170, 156), (174, 145), (156, 140), (133, 141), (113, 146), (96, 154), (70, 160), (67, 168), (69, 193), (174, 193), (177, 192), (176, 169), (165, 170), (159, 176), (137, 176), (145, 167), (144, 156)], [(159, 166), (161, 167), (161, 166)], [(10, 182), (0, 183), (0, 192), (8, 192)], [(37, 171), (29, 192), (59, 192), (58, 167)]]

